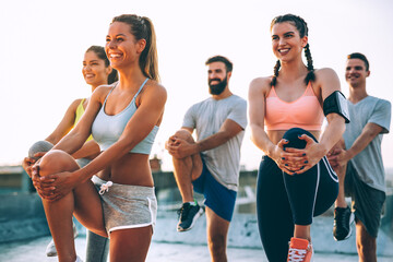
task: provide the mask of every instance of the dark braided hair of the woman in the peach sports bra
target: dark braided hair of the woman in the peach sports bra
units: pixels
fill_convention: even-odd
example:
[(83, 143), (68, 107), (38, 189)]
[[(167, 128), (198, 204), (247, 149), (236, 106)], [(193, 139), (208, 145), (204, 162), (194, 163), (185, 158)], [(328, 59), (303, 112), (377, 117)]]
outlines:
[[(289, 22), (293, 25), (295, 25), (295, 27), (299, 32), (299, 35), (301, 38), (305, 36), (308, 36), (308, 27), (307, 27), (306, 21), (303, 19), (301, 19), (300, 16), (294, 15), (294, 14), (284, 14), (284, 15), (278, 15), (278, 16), (274, 17), (271, 23), (271, 31), (273, 28), (273, 25), (278, 24), (278, 23), (284, 23), (284, 22)], [(309, 71), (305, 79), (305, 82), (306, 82), (306, 84), (308, 84), (310, 81), (315, 80), (313, 61), (312, 61), (309, 44), (307, 44), (305, 46), (305, 56), (307, 59), (307, 69)], [(273, 72), (273, 79), (271, 82), (271, 86), (276, 85), (276, 83), (277, 83), (279, 68), (281, 68), (281, 61), (277, 60), (276, 64), (274, 66), (274, 72)]]

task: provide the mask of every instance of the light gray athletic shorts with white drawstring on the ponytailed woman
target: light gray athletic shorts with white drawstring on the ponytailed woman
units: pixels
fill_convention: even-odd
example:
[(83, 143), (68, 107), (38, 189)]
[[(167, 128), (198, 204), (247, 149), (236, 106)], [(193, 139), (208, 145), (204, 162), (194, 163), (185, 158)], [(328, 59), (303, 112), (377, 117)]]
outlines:
[(100, 194), (104, 222), (108, 235), (114, 230), (154, 225), (157, 200), (154, 187), (112, 183), (93, 176), (93, 183)]

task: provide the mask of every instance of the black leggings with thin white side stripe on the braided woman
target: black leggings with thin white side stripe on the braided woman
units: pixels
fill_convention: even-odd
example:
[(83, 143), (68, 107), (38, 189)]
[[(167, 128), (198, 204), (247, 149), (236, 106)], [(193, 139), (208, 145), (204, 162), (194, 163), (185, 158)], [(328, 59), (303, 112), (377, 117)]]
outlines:
[[(298, 139), (303, 133), (315, 140), (310, 132), (295, 128), (284, 134), (289, 141), (286, 146), (303, 148), (306, 142)], [(306, 172), (290, 176), (263, 156), (257, 181), (257, 215), (269, 261), (286, 261), (294, 225), (310, 225), (312, 217), (324, 213), (337, 194), (338, 179), (326, 157)]]

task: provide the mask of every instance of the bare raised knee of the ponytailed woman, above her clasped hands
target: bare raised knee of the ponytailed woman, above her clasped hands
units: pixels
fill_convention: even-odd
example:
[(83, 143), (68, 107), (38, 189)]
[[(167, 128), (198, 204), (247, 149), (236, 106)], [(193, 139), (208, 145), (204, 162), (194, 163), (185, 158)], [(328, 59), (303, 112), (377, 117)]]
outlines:
[(39, 175), (46, 176), (61, 171), (73, 171), (79, 168), (75, 159), (59, 150), (49, 151), (39, 162)]

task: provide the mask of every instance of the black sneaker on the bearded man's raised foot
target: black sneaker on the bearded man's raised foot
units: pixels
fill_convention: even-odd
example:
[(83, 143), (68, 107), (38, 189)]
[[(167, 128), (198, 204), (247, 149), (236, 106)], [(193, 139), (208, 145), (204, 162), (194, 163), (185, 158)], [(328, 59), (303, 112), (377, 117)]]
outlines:
[(196, 204), (183, 203), (181, 209), (178, 210), (179, 223), (177, 225), (178, 231), (190, 230), (195, 224), (196, 219), (203, 214), (203, 209)]

